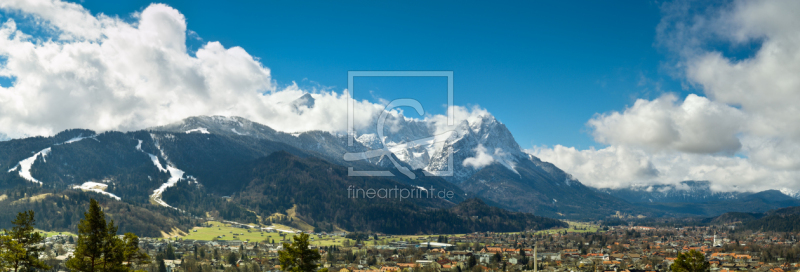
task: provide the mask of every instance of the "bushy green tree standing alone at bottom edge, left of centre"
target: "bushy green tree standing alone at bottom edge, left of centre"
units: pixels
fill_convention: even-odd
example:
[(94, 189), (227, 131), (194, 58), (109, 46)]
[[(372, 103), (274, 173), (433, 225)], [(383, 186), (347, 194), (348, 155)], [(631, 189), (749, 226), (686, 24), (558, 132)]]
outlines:
[[(317, 271), (317, 261), (321, 258), (319, 251), (308, 248), (308, 234), (302, 233), (293, 237), (294, 242), (284, 243), (278, 252), (281, 270), (289, 272)], [(327, 272), (327, 269), (323, 269)]]

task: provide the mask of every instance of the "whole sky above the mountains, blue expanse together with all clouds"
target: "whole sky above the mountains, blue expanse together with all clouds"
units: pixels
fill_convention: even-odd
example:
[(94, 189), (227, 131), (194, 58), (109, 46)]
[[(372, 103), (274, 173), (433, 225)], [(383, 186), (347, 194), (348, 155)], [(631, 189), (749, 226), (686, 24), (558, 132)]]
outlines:
[[(456, 105), (584, 184), (800, 196), (798, 13), (788, 0), (6, 1), (0, 140), (209, 114), (342, 131), (348, 71), (448, 70)], [(361, 78), (355, 97), (442, 114), (444, 88)], [(313, 110), (286, 106), (309, 90)], [(361, 125), (380, 110), (358, 105)]]

